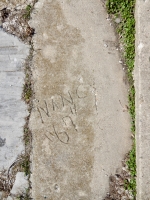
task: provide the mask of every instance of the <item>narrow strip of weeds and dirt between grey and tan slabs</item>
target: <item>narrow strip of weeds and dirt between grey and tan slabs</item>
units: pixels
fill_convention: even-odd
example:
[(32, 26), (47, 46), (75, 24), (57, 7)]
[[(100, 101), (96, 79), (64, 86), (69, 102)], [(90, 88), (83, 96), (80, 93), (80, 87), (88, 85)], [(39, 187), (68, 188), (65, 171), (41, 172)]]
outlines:
[(32, 133), (31, 130), (29, 129), (29, 118), (32, 110), (32, 97), (33, 97), (33, 90), (32, 90), (32, 71), (31, 71), (31, 65), (32, 65), (32, 58), (33, 58), (33, 48), (31, 46), (30, 48), (30, 54), (28, 58), (26, 59), (25, 62), (25, 84), (23, 87), (23, 93), (22, 97), (24, 101), (28, 105), (28, 111), (29, 115), (26, 117), (26, 124), (24, 125), (24, 136), (23, 136), (23, 141), (25, 144), (25, 153), (24, 155), (21, 156), (19, 166), (20, 170), (25, 173), (25, 175), (28, 177), (29, 181), (29, 188), (26, 189), (26, 192), (21, 194), (18, 199), (19, 200), (30, 200), (31, 194), (30, 194), (30, 189), (31, 189), (31, 182), (30, 182), (30, 175), (31, 175), (31, 161), (30, 161), (30, 154), (31, 154), (31, 146), (32, 146)]

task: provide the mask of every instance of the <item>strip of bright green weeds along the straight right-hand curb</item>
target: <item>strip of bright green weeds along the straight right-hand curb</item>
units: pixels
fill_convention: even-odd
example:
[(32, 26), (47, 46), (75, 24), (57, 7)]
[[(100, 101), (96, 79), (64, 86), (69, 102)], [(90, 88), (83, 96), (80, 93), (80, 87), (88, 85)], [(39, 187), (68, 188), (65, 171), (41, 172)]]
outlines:
[[(108, 13), (113, 18), (120, 18), (120, 23), (116, 25), (120, 42), (123, 44), (123, 57), (127, 66), (127, 76), (130, 85), (128, 104), (131, 116), (131, 131), (135, 136), (135, 88), (133, 80), (134, 58), (135, 58), (135, 0), (107, 0), (106, 7)], [(131, 179), (125, 181), (125, 189), (128, 189), (133, 198), (136, 199), (136, 143), (133, 140), (132, 150), (128, 154), (127, 166), (131, 174)]]

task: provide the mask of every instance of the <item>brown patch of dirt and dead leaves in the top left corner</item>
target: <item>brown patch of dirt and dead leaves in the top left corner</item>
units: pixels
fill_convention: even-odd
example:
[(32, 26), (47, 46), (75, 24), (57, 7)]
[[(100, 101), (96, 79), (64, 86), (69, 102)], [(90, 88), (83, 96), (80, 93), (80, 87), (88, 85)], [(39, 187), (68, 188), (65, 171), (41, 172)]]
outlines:
[(3, 1), (0, 4), (0, 25), (8, 33), (17, 36), (24, 42), (31, 42), (34, 29), (28, 21), (30, 13), (36, 0), (13, 1), (7, 4)]

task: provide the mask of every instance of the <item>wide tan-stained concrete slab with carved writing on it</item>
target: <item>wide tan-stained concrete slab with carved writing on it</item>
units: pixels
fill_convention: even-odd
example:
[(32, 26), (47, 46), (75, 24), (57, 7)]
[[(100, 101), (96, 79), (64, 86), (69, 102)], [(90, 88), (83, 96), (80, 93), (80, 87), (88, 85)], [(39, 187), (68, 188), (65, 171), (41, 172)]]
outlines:
[(39, 0), (31, 26), (33, 199), (102, 200), (131, 147), (113, 27), (99, 0)]

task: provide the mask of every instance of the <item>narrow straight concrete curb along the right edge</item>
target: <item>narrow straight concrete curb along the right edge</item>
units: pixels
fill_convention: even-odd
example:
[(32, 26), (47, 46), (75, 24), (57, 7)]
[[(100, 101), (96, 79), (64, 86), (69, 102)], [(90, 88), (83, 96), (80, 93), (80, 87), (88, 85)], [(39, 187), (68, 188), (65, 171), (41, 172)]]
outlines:
[(150, 199), (150, 1), (136, 1), (137, 200)]

